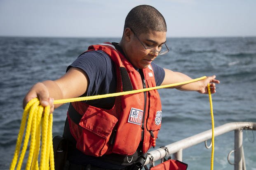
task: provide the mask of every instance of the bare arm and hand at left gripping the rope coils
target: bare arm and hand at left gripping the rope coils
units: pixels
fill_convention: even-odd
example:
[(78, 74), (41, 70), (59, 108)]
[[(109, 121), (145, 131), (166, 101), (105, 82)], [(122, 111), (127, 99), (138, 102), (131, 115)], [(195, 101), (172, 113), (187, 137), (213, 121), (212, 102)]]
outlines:
[(42, 106), (51, 106), (51, 112), (54, 108), (54, 99), (68, 99), (78, 97), (84, 94), (88, 87), (87, 75), (78, 68), (71, 67), (68, 72), (57, 80), (46, 80), (42, 83), (36, 83), (31, 87), (23, 99), (23, 108), (28, 101), (33, 98), (39, 98)]

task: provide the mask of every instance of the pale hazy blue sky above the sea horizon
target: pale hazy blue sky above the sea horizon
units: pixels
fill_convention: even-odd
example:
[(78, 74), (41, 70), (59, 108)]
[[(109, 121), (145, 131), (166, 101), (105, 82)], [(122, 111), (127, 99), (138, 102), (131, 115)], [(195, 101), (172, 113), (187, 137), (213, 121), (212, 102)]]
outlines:
[(256, 36), (256, 0), (0, 0), (0, 36), (122, 37), (143, 4), (164, 16), (167, 37)]

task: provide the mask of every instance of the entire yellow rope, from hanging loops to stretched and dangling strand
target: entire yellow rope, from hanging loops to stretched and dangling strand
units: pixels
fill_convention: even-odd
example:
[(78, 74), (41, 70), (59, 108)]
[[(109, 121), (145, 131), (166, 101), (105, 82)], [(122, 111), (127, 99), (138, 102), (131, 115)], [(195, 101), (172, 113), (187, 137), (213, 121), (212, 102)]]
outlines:
[[(206, 78), (206, 76), (196, 78), (193, 80), (184, 81), (181, 83), (173, 83), (169, 85), (161, 85), (157, 87), (150, 87), (145, 89), (139, 90), (132, 90), (126, 92), (118, 92), (112, 94), (103, 94), (103, 95), (96, 95), (96, 96), (85, 96), (85, 97), (78, 97), (78, 98), (71, 98), (71, 99), (60, 99), (55, 100), (54, 104), (61, 104), (61, 103), (70, 103), (75, 101), (85, 101), (85, 100), (94, 100), (94, 99), (101, 99), (106, 97), (114, 97), (114, 96), (121, 96), (126, 94), (135, 94), (139, 92), (145, 92), (150, 90), (157, 90), (161, 88), (167, 87), (174, 87), (178, 85), (184, 85), (188, 83), (193, 83), (199, 80)], [(211, 107), (211, 121), (212, 121), (212, 150), (211, 150), (211, 170), (213, 170), (213, 160), (214, 160), (214, 117), (213, 117), (213, 109), (212, 109), (212, 101), (211, 101), (211, 91), (210, 85), (208, 84), (208, 92), (209, 92), (209, 101)], [(31, 139), (30, 142), (30, 149), (28, 154), (28, 160), (26, 164), (26, 170), (54, 170), (54, 154), (53, 154), (53, 146), (52, 146), (52, 114), (49, 114), (50, 107), (43, 107), (40, 105), (40, 102), (37, 98), (32, 99), (29, 101), (24, 109), (21, 126), (16, 142), (16, 148), (14, 152), (14, 156), (12, 159), (12, 163), (10, 166), (10, 170), (14, 170), (17, 164), (16, 170), (21, 169), (21, 165), (23, 162), (23, 158), (25, 156), (25, 152), (28, 146), (28, 140)], [(28, 120), (27, 120), (28, 117)], [(27, 120), (27, 123), (26, 123)], [(27, 126), (26, 126), (27, 124)], [(20, 147), (22, 143), (23, 133), (26, 126), (26, 135), (23, 141), (23, 148), (20, 154)], [(41, 126), (42, 126), (42, 139), (41, 139)], [(31, 137), (30, 137), (31, 135)], [(41, 145), (41, 156), (40, 156), (40, 165), (38, 165), (38, 155), (40, 152), (40, 141), (42, 140)], [(19, 162), (17, 163), (19, 156)]]

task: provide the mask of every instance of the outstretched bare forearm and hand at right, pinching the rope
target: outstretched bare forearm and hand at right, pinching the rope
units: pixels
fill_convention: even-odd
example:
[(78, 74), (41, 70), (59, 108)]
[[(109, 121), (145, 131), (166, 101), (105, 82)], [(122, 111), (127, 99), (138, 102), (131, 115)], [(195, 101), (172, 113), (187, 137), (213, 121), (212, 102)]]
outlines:
[[(179, 83), (179, 82), (183, 82), (183, 81), (192, 79), (189, 76), (187, 76), (186, 74), (183, 74), (180, 72), (171, 71), (169, 69), (164, 69), (164, 71), (165, 71), (165, 77), (162, 82), (162, 85)], [(176, 88), (178, 90), (183, 90), (183, 91), (197, 91), (202, 94), (207, 94), (208, 93), (207, 85), (208, 85), (208, 83), (210, 83), (211, 93), (215, 93), (216, 92), (215, 83), (217, 83), (217, 84), (220, 83), (220, 81), (216, 80), (215, 77), (216, 76), (209, 76), (203, 80), (200, 80), (200, 81), (197, 81), (194, 83), (189, 83), (186, 85), (179, 85), (179, 86), (171, 87), (171, 88)]]

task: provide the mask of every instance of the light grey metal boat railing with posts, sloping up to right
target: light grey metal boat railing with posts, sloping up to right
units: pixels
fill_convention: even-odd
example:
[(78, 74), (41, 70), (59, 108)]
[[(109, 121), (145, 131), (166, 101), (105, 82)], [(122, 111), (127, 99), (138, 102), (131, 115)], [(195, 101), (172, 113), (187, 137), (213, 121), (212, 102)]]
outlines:
[[(222, 135), (224, 133), (235, 131), (235, 147), (234, 150), (228, 154), (228, 159), (230, 154), (234, 152), (234, 163), (230, 164), (234, 165), (234, 170), (246, 170), (245, 160), (244, 160), (244, 150), (243, 150), (243, 129), (256, 130), (256, 122), (231, 122), (227, 124), (223, 124), (221, 126), (214, 128), (214, 137)], [(190, 136), (183, 140), (179, 140), (177, 142), (171, 143), (164, 147), (160, 147), (153, 151), (148, 152), (148, 158), (144, 165), (152, 164), (157, 160), (163, 159), (165, 156), (173, 154), (174, 159), (182, 161), (182, 150), (193, 145), (197, 145), (201, 142), (205, 142), (211, 139), (211, 129), (208, 131), (204, 131), (202, 133), (198, 133), (194, 136)], [(210, 146), (209, 146), (210, 147)]]

